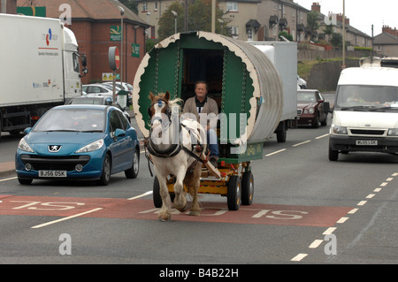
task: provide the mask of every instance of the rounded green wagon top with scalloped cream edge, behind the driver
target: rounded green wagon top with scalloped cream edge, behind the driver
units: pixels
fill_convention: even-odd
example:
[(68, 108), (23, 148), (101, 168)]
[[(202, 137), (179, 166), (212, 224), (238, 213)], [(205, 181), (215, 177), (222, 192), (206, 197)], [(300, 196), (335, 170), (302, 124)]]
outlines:
[(197, 80), (207, 81), (208, 95), (228, 123), (233, 122), (228, 125), (228, 142), (241, 136), (249, 142), (264, 141), (275, 131), (283, 88), (272, 62), (247, 42), (197, 31), (173, 34), (143, 57), (134, 78), (133, 107), (144, 136), (149, 135), (149, 92), (169, 91), (172, 98), (186, 101), (195, 95)]

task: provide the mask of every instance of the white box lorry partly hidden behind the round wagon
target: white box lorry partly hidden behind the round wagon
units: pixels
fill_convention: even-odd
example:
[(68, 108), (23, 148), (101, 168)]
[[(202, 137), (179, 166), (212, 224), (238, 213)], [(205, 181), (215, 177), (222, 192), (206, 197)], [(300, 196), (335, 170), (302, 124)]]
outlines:
[(297, 119), (297, 43), (249, 42), (261, 50), (275, 65), (283, 83), (283, 111), (275, 130), (277, 140), (285, 142), (287, 128)]

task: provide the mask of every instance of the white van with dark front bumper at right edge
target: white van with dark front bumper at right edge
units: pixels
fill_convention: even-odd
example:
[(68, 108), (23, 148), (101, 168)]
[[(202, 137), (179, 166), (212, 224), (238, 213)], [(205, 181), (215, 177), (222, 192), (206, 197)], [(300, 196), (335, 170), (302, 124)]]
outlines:
[(398, 153), (398, 68), (362, 66), (341, 72), (329, 160), (349, 151)]

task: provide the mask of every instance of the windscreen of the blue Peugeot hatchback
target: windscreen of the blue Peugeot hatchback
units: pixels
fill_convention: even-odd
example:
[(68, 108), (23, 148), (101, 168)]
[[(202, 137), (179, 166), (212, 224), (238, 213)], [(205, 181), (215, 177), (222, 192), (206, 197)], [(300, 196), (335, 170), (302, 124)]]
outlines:
[(103, 132), (105, 112), (90, 109), (54, 109), (34, 126), (34, 132)]

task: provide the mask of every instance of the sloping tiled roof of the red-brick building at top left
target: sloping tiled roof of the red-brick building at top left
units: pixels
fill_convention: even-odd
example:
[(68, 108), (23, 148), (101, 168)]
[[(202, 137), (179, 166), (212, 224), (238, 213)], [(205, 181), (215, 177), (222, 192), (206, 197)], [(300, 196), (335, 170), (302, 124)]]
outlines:
[[(18, 0), (18, 6), (27, 5), (27, 0)], [(47, 17), (59, 18), (63, 9), (59, 11), (61, 4), (69, 4), (72, 11), (72, 20), (94, 20), (111, 21), (120, 20), (119, 6), (125, 10), (124, 20), (132, 22), (135, 25), (149, 27), (124, 4), (118, 0), (35, 0), (35, 6), (45, 6)]]

